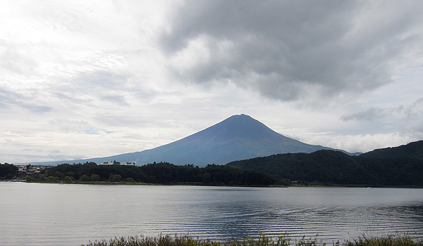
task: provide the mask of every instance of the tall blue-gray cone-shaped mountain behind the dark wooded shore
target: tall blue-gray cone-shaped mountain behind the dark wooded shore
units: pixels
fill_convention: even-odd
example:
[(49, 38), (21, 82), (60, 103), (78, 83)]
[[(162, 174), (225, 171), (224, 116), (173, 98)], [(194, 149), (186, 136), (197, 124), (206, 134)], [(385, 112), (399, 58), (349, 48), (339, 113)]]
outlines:
[(116, 160), (118, 162), (135, 162), (137, 165), (170, 162), (204, 167), (207, 164), (226, 164), (235, 160), (279, 153), (312, 153), (317, 150), (333, 149), (321, 145), (309, 145), (288, 138), (248, 115), (233, 115), (196, 134), (151, 150), (44, 164), (102, 163)]

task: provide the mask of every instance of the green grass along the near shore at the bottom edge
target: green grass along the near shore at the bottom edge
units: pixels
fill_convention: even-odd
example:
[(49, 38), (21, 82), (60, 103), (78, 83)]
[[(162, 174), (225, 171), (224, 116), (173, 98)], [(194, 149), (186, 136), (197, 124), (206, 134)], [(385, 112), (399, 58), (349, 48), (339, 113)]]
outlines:
[[(302, 238), (291, 240), (288, 236), (282, 235), (277, 238), (269, 238), (260, 234), (257, 239), (245, 237), (242, 241), (235, 238), (228, 242), (215, 242), (212, 240), (200, 240), (188, 235), (159, 235), (158, 237), (128, 236), (114, 238), (111, 240), (100, 240), (89, 242), (81, 246), (324, 246), (317, 238)], [(412, 240), (407, 235), (386, 235), (383, 237), (362, 236), (345, 242), (333, 242), (333, 245), (342, 246), (423, 246), (423, 240)]]

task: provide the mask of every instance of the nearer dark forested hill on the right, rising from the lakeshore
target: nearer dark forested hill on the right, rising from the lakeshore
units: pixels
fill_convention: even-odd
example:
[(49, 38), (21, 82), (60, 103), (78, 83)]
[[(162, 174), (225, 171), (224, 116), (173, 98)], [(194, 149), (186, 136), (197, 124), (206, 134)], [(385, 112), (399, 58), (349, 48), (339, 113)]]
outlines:
[(279, 179), (323, 185), (423, 186), (423, 160), (351, 156), (333, 150), (279, 154), (228, 163), (230, 167), (262, 171)]

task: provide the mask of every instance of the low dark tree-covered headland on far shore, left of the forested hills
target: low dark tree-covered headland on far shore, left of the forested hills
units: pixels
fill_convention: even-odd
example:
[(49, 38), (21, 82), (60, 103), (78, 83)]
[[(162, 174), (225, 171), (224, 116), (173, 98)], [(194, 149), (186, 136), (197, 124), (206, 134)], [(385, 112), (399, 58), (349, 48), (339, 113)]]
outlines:
[(27, 176), (27, 181), (46, 182), (138, 182), (138, 183), (195, 183), (231, 186), (271, 186), (278, 181), (269, 174), (237, 169), (226, 165), (209, 164), (194, 167), (179, 166), (167, 162), (146, 164), (140, 167), (120, 165), (59, 164), (49, 167), (42, 174)]

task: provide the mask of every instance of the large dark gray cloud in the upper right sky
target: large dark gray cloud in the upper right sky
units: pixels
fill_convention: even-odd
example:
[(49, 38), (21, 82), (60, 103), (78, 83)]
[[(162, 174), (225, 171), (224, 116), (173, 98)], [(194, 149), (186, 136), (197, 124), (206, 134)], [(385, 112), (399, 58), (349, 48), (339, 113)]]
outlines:
[[(422, 7), (422, 1), (190, 1), (161, 44), (184, 82), (233, 82), (282, 101), (360, 93), (392, 82), (392, 60), (422, 42), (413, 34)], [(184, 65), (183, 53), (196, 51), (197, 60)]]

